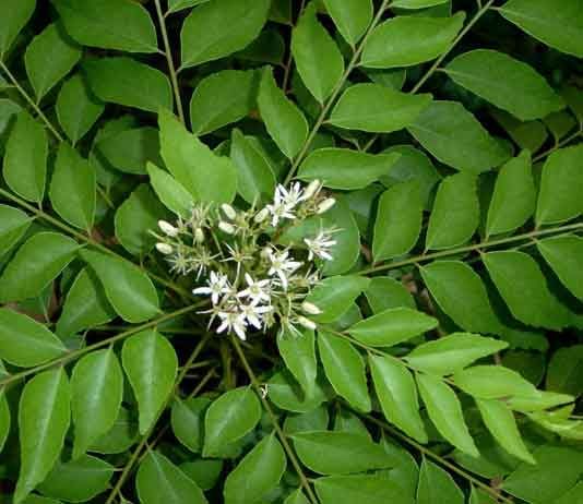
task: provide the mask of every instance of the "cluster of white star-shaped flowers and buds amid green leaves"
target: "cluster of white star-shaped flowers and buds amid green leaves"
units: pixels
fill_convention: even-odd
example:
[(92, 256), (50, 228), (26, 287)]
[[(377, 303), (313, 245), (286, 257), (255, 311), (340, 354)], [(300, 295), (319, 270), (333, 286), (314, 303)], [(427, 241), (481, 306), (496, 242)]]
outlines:
[[(238, 211), (199, 204), (188, 218), (158, 223), (156, 249), (171, 271), (192, 275), (201, 284), (192, 289), (211, 308), (209, 326), (246, 339), (250, 331), (265, 332), (276, 324), (298, 333), (314, 328), (310, 315), (320, 309), (306, 297), (320, 281), (320, 266), (331, 261), (336, 229), (324, 229), (319, 217), (334, 206), (316, 180), (302, 188), (278, 185), (273, 202)], [(293, 240), (295, 226), (311, 220), (314, 235)], [(310, 226), (307, 226), (310, 228)], [(313, 227), (312, 227), (313, 228)]]

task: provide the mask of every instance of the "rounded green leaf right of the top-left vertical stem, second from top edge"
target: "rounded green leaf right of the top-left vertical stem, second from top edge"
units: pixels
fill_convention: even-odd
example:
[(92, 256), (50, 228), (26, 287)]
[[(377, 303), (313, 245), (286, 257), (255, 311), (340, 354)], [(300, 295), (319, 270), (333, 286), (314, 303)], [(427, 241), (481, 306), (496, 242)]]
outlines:
[(223, 70), (203, 79), (190, 100), (190, 122), (197, 135), (237, 122), (255, 106), (258, 73)]

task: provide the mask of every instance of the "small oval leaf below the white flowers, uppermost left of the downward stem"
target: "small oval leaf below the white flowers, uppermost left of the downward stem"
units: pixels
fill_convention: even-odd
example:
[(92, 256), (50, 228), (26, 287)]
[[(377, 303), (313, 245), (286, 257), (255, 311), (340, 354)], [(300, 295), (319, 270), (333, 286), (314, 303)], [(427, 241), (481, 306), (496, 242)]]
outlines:
[(203, 457), (213, 456), (252, 431), (261, 418), (261, 405), (250, 387), (228, 391), (206, 410)]

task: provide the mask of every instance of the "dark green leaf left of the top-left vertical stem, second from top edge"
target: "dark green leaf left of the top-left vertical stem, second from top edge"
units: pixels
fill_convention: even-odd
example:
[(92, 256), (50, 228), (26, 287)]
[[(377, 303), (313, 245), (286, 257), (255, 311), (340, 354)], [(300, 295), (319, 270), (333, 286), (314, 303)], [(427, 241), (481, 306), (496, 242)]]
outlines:
[(87, 60), (83, 68), (93, 93), (103, 101), (151, 112), (172, 108), (170, 81), (163, 72), (147, 64), (116, 57)]

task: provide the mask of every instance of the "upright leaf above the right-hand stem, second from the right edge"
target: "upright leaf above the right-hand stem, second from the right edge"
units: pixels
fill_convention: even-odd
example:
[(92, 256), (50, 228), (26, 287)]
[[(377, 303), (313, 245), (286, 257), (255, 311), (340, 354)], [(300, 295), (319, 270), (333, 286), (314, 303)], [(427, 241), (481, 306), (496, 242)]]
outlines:
[(535, 201), (531, 154), (523, 151), (498, 173), (488, 208), (486, 233), (497, 235), (520, 228), (533, 215)]

